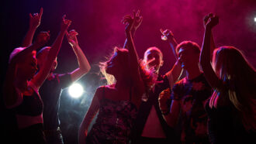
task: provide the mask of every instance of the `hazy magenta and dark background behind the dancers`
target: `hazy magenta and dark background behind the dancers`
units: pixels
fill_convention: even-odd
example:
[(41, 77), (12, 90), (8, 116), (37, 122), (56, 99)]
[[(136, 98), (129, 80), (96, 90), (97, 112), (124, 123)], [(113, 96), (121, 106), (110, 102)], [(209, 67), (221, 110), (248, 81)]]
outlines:
[[(202, 45), (204, 28), (202, 19), (209, 12), (220, 16), (220, 23), (213, 30), (216, 46), (236, 46), (242, 50), (256, 67), (256, 1), (254, 0), (24, 0), (3, 1), (1, 4), (1, 84), (5, 77), (9, 54), (22, 43), (29, 26), (29, 13), (40, 12), (43, 17), (40, 31), (50, 30), (50, 46), (60, 30), (62, 15), (72, 23), (69, 29), (75, 29), (78, 42), (92, 70), (82, 77), (85, 93), (81, 98), (71, 98), (64, 90), (61, 94), (61, 129), (65, 143), (78, 143), (78, 126), (88, 110), (95, 88), (102, 84), (97, 67), (105, 61), (114, 46), (123, 46), (125, 39), (123, 15), (131, 14), (133, 9), (140, 9), (144, 21), (134, 39), (137, 52), (142, 58), (147, 47), (157, 46), (164, 53), (164, 66), (161, 74), (171, 69), (175, 58), (168, 43), (161, 40), (159, 29), (171, 29), (178, 43), (192, 40)], [(77, 60), (67, 39), (58, 55), (57, 73), (71, 72), (78, 67)]]

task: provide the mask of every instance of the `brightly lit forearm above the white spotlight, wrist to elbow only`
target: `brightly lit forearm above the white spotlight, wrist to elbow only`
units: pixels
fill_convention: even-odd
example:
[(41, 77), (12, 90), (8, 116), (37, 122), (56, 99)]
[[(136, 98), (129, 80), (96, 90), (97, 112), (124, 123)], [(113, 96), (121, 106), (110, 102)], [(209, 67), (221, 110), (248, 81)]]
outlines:
[(72, 46), (74, 53), (78, 59), (78, 65), (79, 68), (84, 71), (85, 73), (87, 73), (90, 69), (91, 66), (88, 63), (87, 58), (85, 57), (85, 53), (83, 53), (83, 51), (81, 50), (80, 46), (77, 44), (75, 46)]

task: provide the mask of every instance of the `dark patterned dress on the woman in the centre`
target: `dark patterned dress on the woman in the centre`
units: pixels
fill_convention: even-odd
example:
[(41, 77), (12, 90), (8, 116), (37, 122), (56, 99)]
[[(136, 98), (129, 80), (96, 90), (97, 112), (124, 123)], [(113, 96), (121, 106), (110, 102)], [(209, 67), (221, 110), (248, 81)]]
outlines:
[(131, 101), (113, 101), (102, 98), (99, 115), (86, 143), (130, 143), (130, 132), (137, 116), (137, 107)]

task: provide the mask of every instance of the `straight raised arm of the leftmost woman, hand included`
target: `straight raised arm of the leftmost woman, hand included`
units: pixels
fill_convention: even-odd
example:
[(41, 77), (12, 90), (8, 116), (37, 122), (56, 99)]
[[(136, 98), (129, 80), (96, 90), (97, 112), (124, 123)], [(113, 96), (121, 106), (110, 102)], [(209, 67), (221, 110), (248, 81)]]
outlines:
[(58, 34), (57, 39), (55, 40), (54, 44), (51, 46), (50, 51), (47, 55), (47, 60), (43, 64), (42, 70), (40, 70), (36, 76), (33, 78), (32, 82), (35, 86), (39, 89), (40, 86), (43, 84), (43, 81), (47, 78), (47, 75), (50, 72), (50, 67), (52, 63), (57, 57), (57, 53), (61, 49), (61, 43), (64, 38), (64, 34), (67, 31), (68, 26), (71, 25), (71, 20), (65, 19), (65, 15), (62, 18), (61, 22), (61, 32)]

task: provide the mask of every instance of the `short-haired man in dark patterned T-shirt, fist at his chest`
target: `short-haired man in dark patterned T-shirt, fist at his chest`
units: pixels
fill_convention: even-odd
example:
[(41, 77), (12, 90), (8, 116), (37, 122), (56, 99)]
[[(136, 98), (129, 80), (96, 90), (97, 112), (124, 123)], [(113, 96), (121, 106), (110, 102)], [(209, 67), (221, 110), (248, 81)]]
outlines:
[[(178, 44), (176, 53), (186, 77), (178, 81), (172, 91), (161, 92), (160, 99), (170, 95), (172, 99), (170, 111), (163, 115), (164, 120), (172, 128), (179, 123), (181, 142), (209, 143), (204, 105), (210, 97), (211, 87), (199, 67), (200, 48), (194, 42), (184, 41)], [(166, 105), (165, 101), (159, 102), (160, 105)]]

